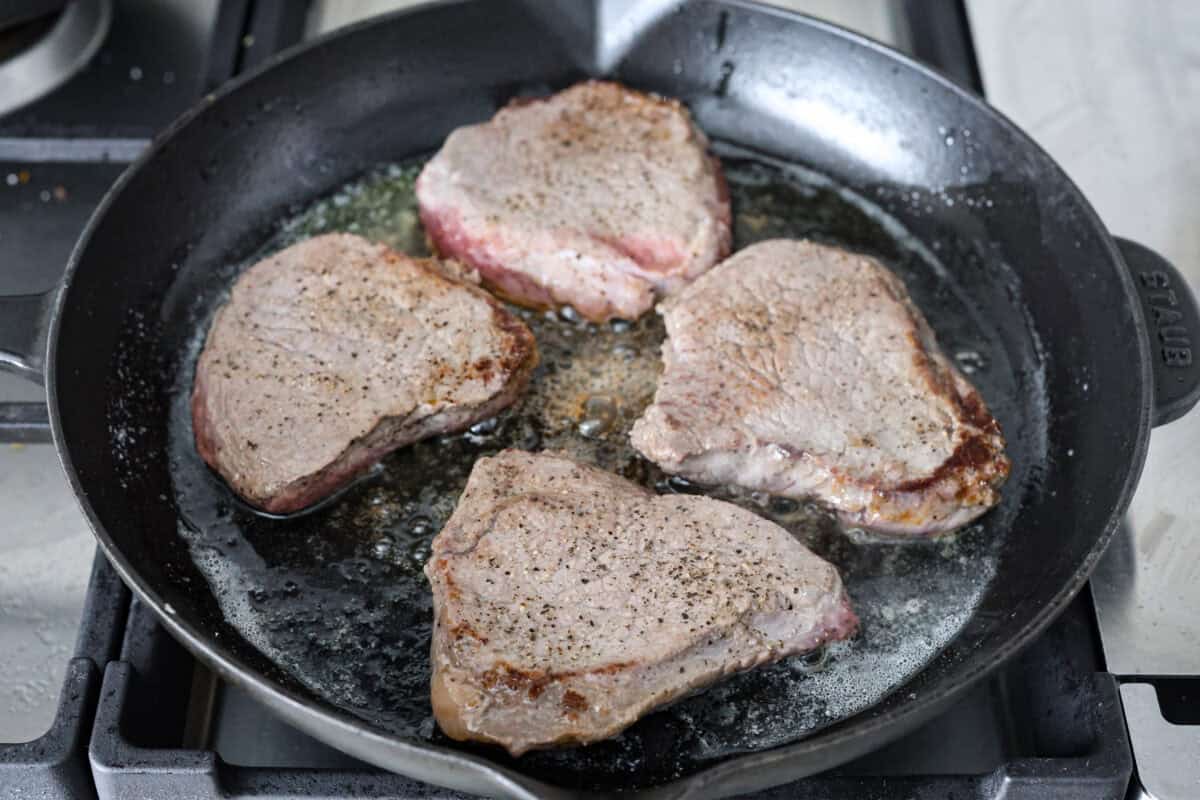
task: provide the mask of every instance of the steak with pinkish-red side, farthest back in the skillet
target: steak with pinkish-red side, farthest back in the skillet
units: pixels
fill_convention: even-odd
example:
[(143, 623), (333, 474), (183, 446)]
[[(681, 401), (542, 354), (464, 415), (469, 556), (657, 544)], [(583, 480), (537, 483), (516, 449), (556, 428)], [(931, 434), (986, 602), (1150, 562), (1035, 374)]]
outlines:
[(416, 181), (443, 255), (527, 306), (634, 319), (730, 251), (730, 200), (677, 101), (590, 80), (458, 128)]

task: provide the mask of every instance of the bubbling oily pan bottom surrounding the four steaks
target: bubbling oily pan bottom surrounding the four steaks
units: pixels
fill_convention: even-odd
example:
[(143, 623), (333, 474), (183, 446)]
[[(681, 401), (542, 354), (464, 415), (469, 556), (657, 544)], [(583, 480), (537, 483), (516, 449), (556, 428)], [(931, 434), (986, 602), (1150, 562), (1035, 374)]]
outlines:
[[(503, 447), (565, 450), (658, 492), (701, 492), (786, 527), (841, 570), (862, 632), (848, 644), (734, 676), (588, 747), (509, 759), (544, 780), (590, 788), (667, 781), (737, 753), (800, 739), (901, 687), (971, 619), (996, 572), (1036, 444), (1019, 425), (1028, 385), (995, 343), (985, 314), (934, 252), (866, 198), (821, 174), (722, 148), (734, 204), (736, 247), (774, 236), (811, 237), (882, 259), (982, 391), (1009, 439), (1014, 471), (1001, 506), (936, 541), (876, 541), (841, 531), (809, 504), (671, 479), (628, 445), (654, 392), (661, 324), (593, 325), (570, 313), (518, 309), (542, 355), (527, 397), (469, 432), (404, 447), (332, 501), (270, 518), (239, 501), (200, 462), (188, 396), (211, 314), (236, 275), (305, 236), (348, 230), (425, 253), (413, 198), (415, 162), (379, 167), (296, 209), (250, 259), (212, 276), (190, 312), (194, 335), (174, 368), (169, 408), (172, 498), (179, 535), (226, 620), (323, 702), (397, 736), (451, 742), (428, 702), (431, 597), (421, 566), (476, 458)], [(953, 264), (949, 265), (953, 267)], [(1036, 381), (1040, 386), (1040, 381)], [(1033, 392), (1037, 395), (1037, 392)], [(1044, 411), (1039, 411), (1044, 414)], [(1015, 433), (1015, 435), (1014, 435)]]

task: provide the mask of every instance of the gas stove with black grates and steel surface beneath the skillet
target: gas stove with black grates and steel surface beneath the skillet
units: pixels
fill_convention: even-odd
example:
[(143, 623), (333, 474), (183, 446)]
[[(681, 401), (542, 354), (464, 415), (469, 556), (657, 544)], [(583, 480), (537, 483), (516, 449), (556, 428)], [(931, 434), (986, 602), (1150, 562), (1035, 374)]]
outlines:
[[(28, 13), (0, 30), (0, 296), (50, 289), (106, 188), (205, 92), (306, 36), (408, 4), (14, 5)], [(974, 91), (1006, 89), (961, 2), (779, 5), (888, 41)], [(997, 25), (980, 5), (971, 22)], [(14, 59), (41, 71), (8, 101)], [(0, 441), (17, 443), (0, 445), (0, 795), (461, 796), (326, 747), (197, 663), (94, 555), (40, 402), (0, 374)], [(1176, 426), (1200, 444), (1195, 422)], [(1200, 796), (1200, 628), (1176, 596), (1194, 583), (1186, 528), (1200, 513), (1162, 488), (1198, 471), (1196, 452), (1169, 453), (1168, 467), (1152, 452), (1163, 481), (1139, 493), (1090, 590), (1019, 660), (904, 740), (758, 796)]]

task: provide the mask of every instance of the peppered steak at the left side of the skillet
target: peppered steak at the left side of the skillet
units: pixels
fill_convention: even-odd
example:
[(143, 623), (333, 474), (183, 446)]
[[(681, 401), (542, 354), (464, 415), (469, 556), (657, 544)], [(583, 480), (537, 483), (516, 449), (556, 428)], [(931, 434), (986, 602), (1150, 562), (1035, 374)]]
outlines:
[(196, 367), (204, 461), (248, 503), (287, 513), (512, 403), (538, 361), (533, 335), (440, 266), (329, 234), (246, 270)]

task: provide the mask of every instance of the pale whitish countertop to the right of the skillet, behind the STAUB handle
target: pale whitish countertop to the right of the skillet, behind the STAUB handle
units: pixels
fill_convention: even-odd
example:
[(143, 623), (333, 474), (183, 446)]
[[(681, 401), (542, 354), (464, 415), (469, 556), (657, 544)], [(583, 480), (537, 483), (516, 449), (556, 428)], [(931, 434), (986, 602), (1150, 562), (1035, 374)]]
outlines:
[[(1200, 291), (1200, 2), (967, 7), (989, 101)], [(1108, 667), (1200, 674), (1200, 410), (1154, 431), (1129, 523), (1093, 583)]]

